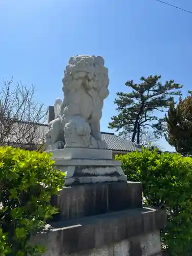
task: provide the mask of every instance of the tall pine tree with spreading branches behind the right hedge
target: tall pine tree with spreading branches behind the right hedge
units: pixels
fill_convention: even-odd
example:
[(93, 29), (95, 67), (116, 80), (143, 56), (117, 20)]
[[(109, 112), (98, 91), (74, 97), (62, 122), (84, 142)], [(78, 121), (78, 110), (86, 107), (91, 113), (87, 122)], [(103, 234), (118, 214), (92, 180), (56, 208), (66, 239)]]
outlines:
[(154, 129), (156, 137), (163, 132), (165, 118), (159, 118), (155, 111), (164, 112), (172, 102), (174, 95), (181, 95), (179, 89), (181, 84), (174, 80), (166, 81), (164, 85), (159, 81), (161, 76), (141, 77), (141, 83), (134, 83), (133, 80), (125, 83), (126, 87), (132, 89), (130, 93), (117, 93), (118, 115), (113, 116), (109, 123), (110, 129), (121, 130), (120, 135), (132, 135), (132, 142), (140, 142), (140, 131), (147, 127)]

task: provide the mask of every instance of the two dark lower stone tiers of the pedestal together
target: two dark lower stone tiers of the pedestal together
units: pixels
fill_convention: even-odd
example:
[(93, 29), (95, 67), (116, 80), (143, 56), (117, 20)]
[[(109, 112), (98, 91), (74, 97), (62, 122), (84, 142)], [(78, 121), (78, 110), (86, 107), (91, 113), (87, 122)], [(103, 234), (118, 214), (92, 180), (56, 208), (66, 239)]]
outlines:
[(67, 186), (52, 199), (59, 214), (32, 243), (44, 256), (160, 256), (166, 212), (142, 206), (142, 185), (103, 182)]

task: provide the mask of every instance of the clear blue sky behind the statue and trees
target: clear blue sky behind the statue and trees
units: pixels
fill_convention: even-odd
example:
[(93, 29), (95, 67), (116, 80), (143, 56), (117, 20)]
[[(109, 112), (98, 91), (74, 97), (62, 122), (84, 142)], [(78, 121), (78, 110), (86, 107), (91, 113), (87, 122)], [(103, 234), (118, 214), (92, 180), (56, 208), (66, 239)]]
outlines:
[[(191, 0), (166, 1), (192, 11)], [(54, 104), (70, 56), (101, 55), (110, 76), (101, 130), (113, 132), (113, 101), (126, 80), (161, 74), (184, 84), (184, 95), (192, 89), (191, 25), (192, 14), (156, 0), (1, 0), (0, 79), (14, 74), (34, 84), (39, 102)]]

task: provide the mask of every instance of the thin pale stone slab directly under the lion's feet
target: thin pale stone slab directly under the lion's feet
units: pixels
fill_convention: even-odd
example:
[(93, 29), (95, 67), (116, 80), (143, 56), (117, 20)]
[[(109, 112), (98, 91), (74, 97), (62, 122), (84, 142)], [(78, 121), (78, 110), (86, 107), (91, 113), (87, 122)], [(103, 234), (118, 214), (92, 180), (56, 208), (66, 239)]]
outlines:
[(100, 150), (96, 148), (61, 148), (60, 150), (49, 150), (53, 159), (105, 159), (112, 160), (111, 150)]

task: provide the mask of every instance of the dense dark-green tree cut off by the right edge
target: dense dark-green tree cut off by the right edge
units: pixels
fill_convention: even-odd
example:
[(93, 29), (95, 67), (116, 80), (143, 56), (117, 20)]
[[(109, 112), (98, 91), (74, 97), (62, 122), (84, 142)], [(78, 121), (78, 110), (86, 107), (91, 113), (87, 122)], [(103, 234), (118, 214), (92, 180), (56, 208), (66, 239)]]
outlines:
[(166, 116), (166, 140), (183, 156), (192, 156), (192, 92), (175, 105), (172, 101)]

